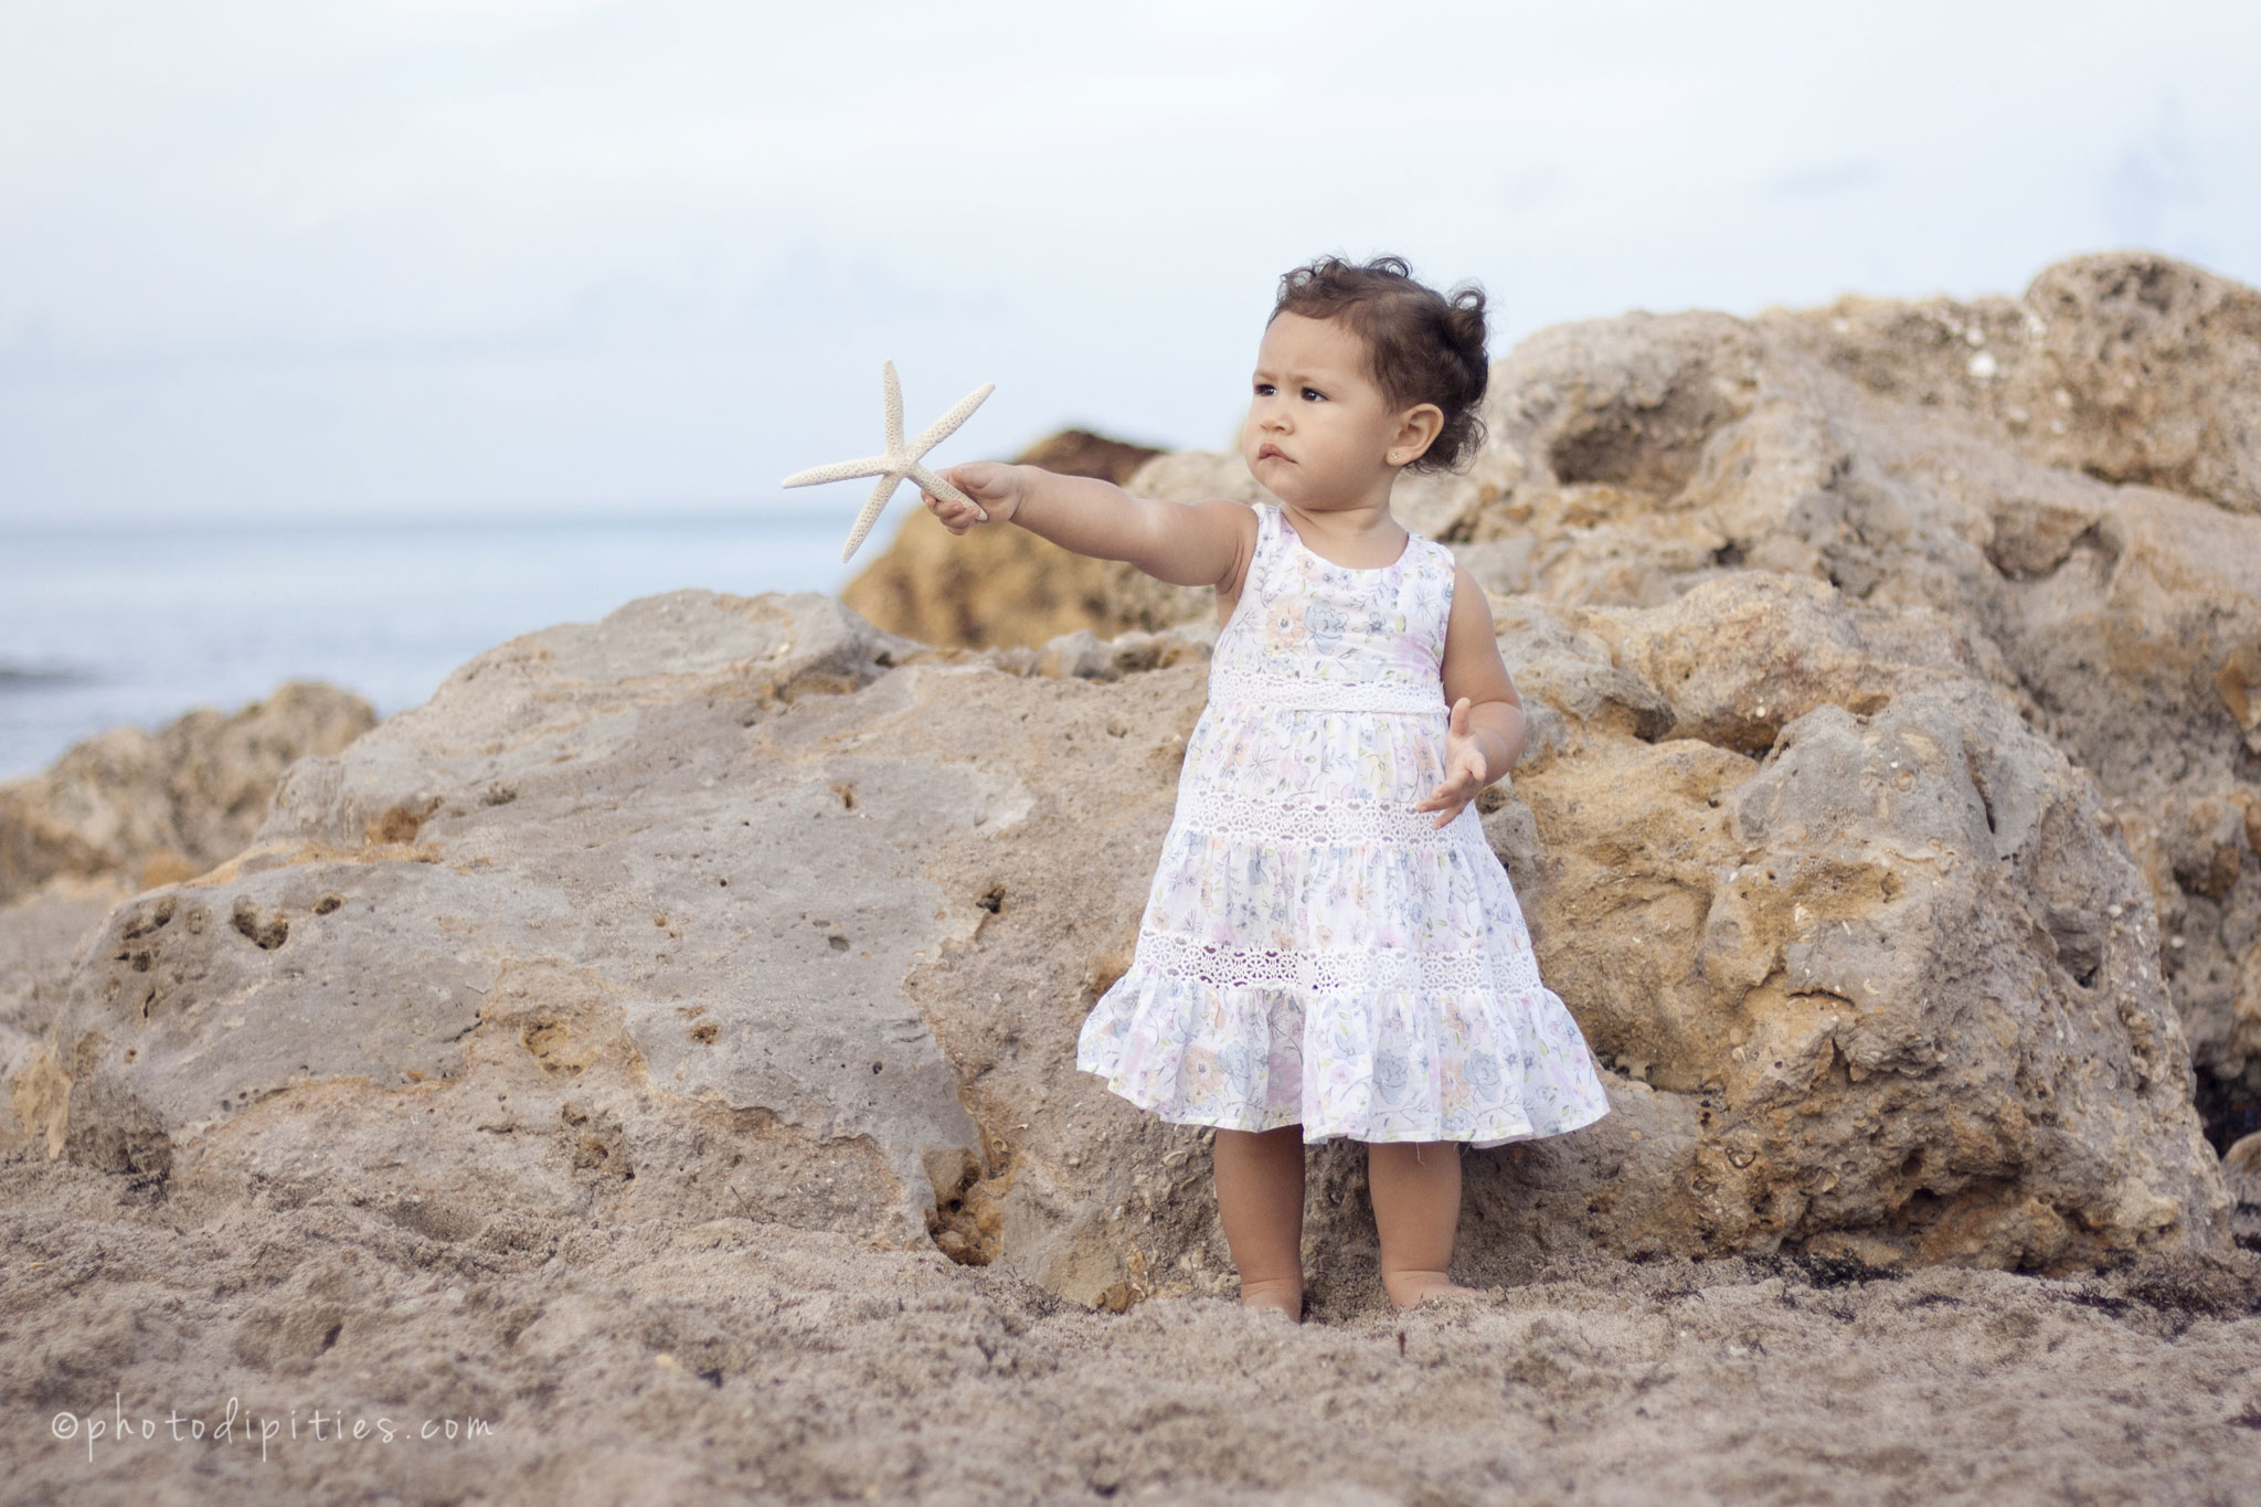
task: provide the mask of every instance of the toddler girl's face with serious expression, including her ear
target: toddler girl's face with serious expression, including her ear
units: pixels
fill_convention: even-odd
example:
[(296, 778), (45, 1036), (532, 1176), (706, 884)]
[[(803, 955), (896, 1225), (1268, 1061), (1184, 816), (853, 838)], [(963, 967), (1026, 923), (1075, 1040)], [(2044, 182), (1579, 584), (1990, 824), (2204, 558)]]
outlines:
[(1298, 508), (1388, 504), (1400, 468), (1440, 423), (1429, 402), (1391, 407), (1348, 325), (1277, 314), (1257, 346), (1241, 456), (1264, 490)]

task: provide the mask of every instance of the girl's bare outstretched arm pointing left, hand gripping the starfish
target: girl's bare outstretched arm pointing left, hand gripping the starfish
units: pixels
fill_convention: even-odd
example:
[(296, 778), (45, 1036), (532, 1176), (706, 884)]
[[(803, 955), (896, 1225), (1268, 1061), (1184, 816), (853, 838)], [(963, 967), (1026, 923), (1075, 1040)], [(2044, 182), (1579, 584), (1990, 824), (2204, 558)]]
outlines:
[[(1060, 477), (1036, 465), (968, 461), (941, 472), (981, 504), (993, 524), (1099, 560), (1128, 560), (1171, 585), (1219, 585), (1237, 576), (1248, 508), (1237, 502), (1155, 502), (1097, 477)], [(972, 508), (922, 493), (952, 533), (979, 522)]]

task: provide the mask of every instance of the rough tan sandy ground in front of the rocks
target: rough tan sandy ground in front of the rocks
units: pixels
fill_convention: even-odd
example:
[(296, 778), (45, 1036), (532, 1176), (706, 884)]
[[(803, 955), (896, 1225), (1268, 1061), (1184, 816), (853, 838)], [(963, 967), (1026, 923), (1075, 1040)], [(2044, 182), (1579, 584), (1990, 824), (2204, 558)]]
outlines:
[(751, 1220), (439, 1240), (27, 1159), (0, 1247), (18, 1505), (2261, 1500), (2247, 1249), (1556, 1263), (1406, 1317), (1350, 1274), (1293, 1329)]

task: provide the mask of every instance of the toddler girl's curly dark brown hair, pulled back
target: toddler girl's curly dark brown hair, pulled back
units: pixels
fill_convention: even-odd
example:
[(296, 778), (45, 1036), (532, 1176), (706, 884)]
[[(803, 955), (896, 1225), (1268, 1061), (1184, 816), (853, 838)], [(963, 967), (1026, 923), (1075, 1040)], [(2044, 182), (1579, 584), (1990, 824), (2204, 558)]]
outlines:
[[(1483, 443), (1476, 407), (1492, 368), (1483, 357), (1483, 287), (1438, 294), (1413, 280), (1404, 258), (1354, 264), (1323, 255), (1280, 278), (1271, 319), (1341, 319), (1366, 341), (1366, 361), (1393, 407), (1433, 402), (1445, 413), (1436, 441), (1406, 470), (1458, 470)], [(1271, 323), (1271, 321), (1264, 321)]]

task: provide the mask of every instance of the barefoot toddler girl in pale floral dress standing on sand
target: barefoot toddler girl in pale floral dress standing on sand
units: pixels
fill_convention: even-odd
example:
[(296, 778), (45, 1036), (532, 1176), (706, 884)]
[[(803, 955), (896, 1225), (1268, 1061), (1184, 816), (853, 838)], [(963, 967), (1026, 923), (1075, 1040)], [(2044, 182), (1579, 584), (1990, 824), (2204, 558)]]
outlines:
[[(990, 522), (1214, 585), (1223, 624), (1130, 969), (1076, 1051), (1130, 1103), (1216, 1127), (1241, 1301), (1302, 1317), (1302, 1148), (1366, 1141), (1381, 1286), (1452, 1286), (1461, 1146), (1608, 1114), (1472, 807), (1524, 746), (1483, 590), (1391, 517), (1397, 472), (1483, 438), (1483, 291), (1397, 258), (1280, 280), (1241, 454), (1277, 499), (1151, 502), (988, 461)], [(927, 495), (965, 533), (974, 511)], [(1447, 709), (1449, 707), (1449, 709)], [(1438, 816), (1429, 816), (1429, 813)]]

